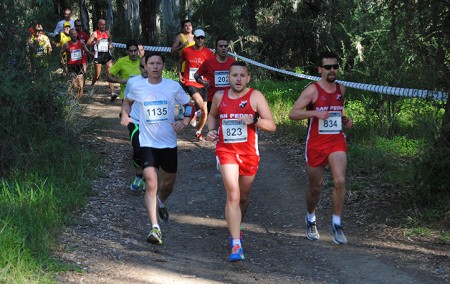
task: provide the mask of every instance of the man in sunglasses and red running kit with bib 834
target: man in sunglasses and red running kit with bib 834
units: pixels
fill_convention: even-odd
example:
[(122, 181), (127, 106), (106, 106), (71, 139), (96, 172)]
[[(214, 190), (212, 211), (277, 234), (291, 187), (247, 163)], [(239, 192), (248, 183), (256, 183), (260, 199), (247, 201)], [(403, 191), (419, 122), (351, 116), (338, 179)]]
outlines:
[(289, 113), (292, 120), (308, 119), (306, 162), (309, 186), (306, 192), (306, 237), (318, 240), (316, 207), (323, 186), (323, 173), (330, 165), (333, 174), (333, 217), (331, 233), (336, 244), (347, 243), (342, 231), (341, 216), (345, 201), (345, 171), (347, 168), (347, 144), (342, 126), (352, 127), (353, 122), (345, 116), (345, 86), (336, 83), (339, 71), (338, 56), (322, 53), (318, 61), (321, 79), (309, 85), (300, 95)]

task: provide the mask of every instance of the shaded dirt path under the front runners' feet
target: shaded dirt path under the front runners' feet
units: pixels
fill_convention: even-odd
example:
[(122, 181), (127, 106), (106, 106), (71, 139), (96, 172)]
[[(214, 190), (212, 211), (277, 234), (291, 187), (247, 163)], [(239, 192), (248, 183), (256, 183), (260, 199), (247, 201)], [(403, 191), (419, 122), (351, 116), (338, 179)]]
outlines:
[[(120, 102), (99, 96), (86, 116), (98, 117), (87, 144), (100, 152), (104, 175), (93, 183), (77, 225), (61, 236), (60, 257), (84, 273), (65, 273), (60, 283), (445, 283), (443, 251), (367, 236), (361, 222), (344, 219), (348, 245), (331, 241), (329, 190), (318, 212), (321, 239), (304, 232), (306, 187), (301, 149), (281, 147), (263, 135), (261, 167), (243, 226), (246, 260), (228, 263), (225, 194), (215, 169), (213, 145), (193, 142), (194, 130), (179, 135), (179, 175), (169, 198), (164, 245), (145, 242), (150, 224), (143, 193), (129, 189), (133, 172), (128, 133), (120, 126)], [(351, 206), (347, 210), (351, 210)], [(429, 260), (437, 257), (436, 261)], [(432, 264), (431, 264), (432, 263)]]

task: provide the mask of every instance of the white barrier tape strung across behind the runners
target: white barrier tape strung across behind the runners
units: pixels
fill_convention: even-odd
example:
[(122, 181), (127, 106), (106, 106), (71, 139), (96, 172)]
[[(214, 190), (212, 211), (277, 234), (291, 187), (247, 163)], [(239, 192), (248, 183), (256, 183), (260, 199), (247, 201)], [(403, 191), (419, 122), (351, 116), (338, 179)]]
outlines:
[[(119, 47), (119, 48), (126, 48), (126, 45), (123, 43), (113, 43), (113, 46)], [(144, 50), (157, 51), (157, 52), (170, 52), (170, 47), (144, 46)], [(228, 54), (230, 54), (231, 56), (237, 57), (243, 61), (246, 61), (250, 64), (253, 64), (253, 65), (268, 69), (268, 70), (272, 70), (272, 71), (276, 71), (276, 72), (283, 73), (286, 75), (291, 75), (291, 76), (299, 77), (302, 79), (308, 79), (308, 80), (312, 80), (312, 81), (320, 80), (320, 77), (318, 77), (318, 76), (310, 76), (310, 75), (295, 73), (292, 71), (286, 71), (286, 70), (278, 69), (275, 67), (271, 67), (271, 66), (259, 63), (257, 61), (248, 59), (246, 57), (237, 55), (235, 53), (229, 52)], [(347, 82), (347, 81), (341, 81), (341, 80), (337, 80), (336, 82), (338, 82), (339, 84), (342, 84), (346, 87), (349, 87), (349, 88), (364, 90), (364, 91), (369, 91), (369, 92), (374, 92), (374, 93), (379, 93), (379, 94), (385, 94), (385, 95), (401, 96), (401, 97), (408, 97), (408, 98), (424, 98), (424, 99), (432, 98), (434, 100), (444, 101), (444, 102), (446, 102), (448, 100), (448, 94), (444, 93), (444, 92), (439, 92), (439, 91), (428, 91), (428, 90), (379, 86), (379, 85), (372, 85), (372, 84)]]

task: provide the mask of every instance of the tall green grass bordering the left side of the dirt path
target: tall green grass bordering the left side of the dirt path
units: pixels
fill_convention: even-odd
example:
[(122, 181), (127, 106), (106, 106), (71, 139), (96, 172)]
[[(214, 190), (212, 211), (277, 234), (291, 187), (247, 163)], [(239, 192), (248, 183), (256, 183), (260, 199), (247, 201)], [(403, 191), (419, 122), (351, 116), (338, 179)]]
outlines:
[(78, 136), (42, 137), (0, 180), (0, 283), (53, 283), (56, 272), (75, 269), (54, 258), (56, 236), (85, 204), (98, 159)]

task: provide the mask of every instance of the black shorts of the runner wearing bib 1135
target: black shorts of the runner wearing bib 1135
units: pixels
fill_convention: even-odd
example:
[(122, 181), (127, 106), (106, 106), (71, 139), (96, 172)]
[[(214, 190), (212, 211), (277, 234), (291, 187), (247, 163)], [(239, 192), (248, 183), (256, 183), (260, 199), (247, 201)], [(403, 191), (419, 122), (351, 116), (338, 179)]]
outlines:
[(175, 148), (150, 148), (141, 147), (142, 169), (146, 167), (155, 167), (163, 169), (168, 173), (176, 173), (178, 168), (178, 153)]

